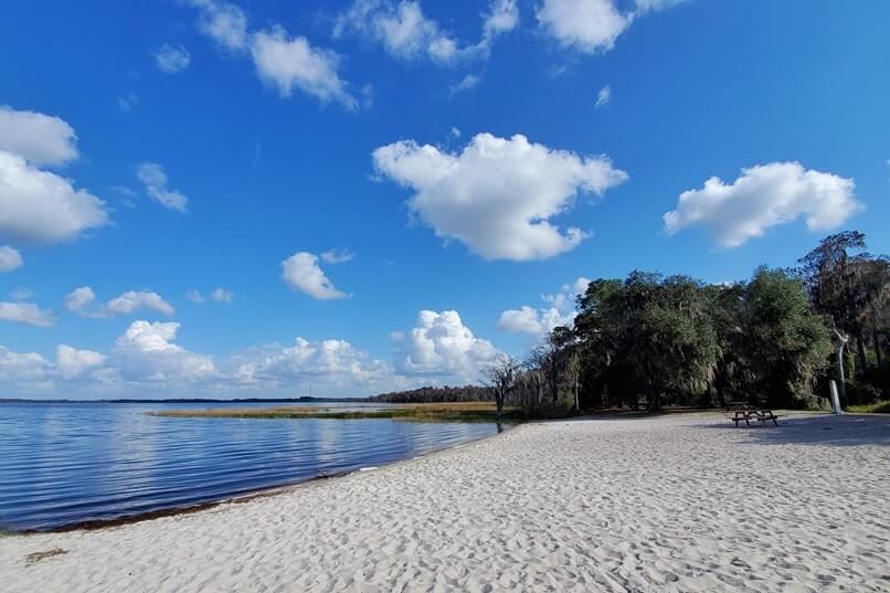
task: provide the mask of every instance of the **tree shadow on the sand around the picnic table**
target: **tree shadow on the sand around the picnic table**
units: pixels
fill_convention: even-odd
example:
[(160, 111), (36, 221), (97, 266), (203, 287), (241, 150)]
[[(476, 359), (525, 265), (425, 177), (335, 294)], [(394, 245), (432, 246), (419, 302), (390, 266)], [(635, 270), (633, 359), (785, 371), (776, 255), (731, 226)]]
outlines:
[(740, 426), (731, 422), (711, 424), (708, 430), (744, 432), (752, 443), (764, 445), (881, 445), (890, 446), (890, 416), (845, 414), (791, 417), (778, 421), (778, 426)]

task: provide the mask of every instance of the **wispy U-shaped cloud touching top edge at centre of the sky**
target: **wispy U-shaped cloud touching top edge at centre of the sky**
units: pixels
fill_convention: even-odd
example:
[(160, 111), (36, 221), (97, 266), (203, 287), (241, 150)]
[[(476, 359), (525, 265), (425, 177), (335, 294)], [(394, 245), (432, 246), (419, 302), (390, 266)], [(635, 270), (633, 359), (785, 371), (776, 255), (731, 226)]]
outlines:
[(356, 0), (338, 15), (333, 36), (353, 33), (381, 43), (386, 53), (398, 59), (426, 57), (437, 64), (452, 64), (486, 56), (498, 35), (519, 24), (519, 9), (516, 0), (494, 0), (481, 18), (481, 40), (466, 44), (425, 17), (416, 0)]

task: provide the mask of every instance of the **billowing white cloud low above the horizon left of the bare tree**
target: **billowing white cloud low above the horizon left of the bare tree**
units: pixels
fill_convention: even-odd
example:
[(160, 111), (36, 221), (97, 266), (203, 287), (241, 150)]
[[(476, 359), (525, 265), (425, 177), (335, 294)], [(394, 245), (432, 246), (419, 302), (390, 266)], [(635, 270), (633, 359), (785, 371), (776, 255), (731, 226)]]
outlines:
[(407, 332), (393, 332), (396, 371), (413, 375), (451, 377), (463, 381), (478, 378), (479, 370), (499, 351), (477, 338), (457, 311), (423, 310)]

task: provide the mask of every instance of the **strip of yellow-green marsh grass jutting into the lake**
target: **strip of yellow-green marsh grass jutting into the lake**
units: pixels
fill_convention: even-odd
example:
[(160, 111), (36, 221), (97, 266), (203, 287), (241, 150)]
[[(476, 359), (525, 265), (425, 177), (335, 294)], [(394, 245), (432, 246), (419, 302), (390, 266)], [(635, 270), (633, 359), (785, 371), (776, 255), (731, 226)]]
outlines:
[[(336, 407), (279, 406), (279, 407), (212, 407), (208, 410), (163, 410), (149, 412), (160, 417), (203, 419), (329, 419), (367, 420), (389, 419), (406, 422), (497, 422), (492, 402), (454, 402), (403, 404), (378, 410), (338, 410)], [(519, 422), (521, 414), (515, 407), (505, 407), (502, 422)]]

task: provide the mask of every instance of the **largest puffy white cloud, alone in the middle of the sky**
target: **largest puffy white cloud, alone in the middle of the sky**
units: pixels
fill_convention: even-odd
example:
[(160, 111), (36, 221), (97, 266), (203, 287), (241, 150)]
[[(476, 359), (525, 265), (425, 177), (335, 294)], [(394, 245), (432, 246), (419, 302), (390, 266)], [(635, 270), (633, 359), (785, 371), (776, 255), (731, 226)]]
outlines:
[(549, 219), (580, 192), (602, 194), (627, 179), (608, 158), (579, 157), (525, 136), (479, 134), (460, 153), (413, 140), (373, 152), (377, 171), (416, 193), (409, 208), (437, 236), (456, 239), (486, 260), (541, 260), (585, 237)]

